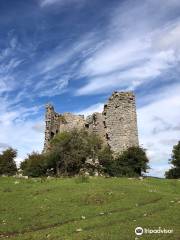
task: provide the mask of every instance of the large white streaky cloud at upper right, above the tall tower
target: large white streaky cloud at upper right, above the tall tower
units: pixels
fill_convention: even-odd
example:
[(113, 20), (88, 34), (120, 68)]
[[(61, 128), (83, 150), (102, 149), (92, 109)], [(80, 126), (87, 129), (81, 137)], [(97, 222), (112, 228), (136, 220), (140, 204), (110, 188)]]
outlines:
[[(159, 5), (155, 1), (130, 3), (113, 12), (102, 46), (82, 64), (80, 75), (87, 77), (88, 82), (76, 95), (104, 93), (115, 88), (136, 89), (179, 65), (179, 19), (160, 20), (160, 16), (168, 14), (170, 3), (160, 9), (158, 16), (151, 12)], [(170, 6), (174, 9), (176, 3)]]

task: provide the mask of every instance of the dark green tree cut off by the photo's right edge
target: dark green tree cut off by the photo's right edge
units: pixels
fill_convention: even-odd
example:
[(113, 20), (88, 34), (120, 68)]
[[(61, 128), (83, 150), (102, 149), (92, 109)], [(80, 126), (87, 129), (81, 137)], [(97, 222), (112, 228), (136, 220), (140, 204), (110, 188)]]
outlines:
[(165, 173), (166, 178), (180, 178), (180, 141), (173, 146), (169, 163), (173, 167)]

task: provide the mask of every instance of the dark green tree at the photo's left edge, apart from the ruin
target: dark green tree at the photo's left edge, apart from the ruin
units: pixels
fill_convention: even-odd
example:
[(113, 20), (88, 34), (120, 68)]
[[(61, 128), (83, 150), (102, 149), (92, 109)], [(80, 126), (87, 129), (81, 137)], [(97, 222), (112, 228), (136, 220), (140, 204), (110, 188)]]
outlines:
[(0, 175), (14, 175), (17, 172), (15, 158), (17, 151), (13, 148), (8, 148), (0, 154)]

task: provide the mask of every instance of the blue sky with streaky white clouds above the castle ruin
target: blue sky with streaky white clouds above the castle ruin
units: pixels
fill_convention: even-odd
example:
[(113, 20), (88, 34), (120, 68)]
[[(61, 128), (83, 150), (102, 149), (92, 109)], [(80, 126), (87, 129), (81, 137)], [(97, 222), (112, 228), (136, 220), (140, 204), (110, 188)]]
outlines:
[(44, 106), (102, 111), (136, 94), (140, 146), (152, 176), (180, 140), (179, 0), (1, 0), (0, 150), (42, 151)]

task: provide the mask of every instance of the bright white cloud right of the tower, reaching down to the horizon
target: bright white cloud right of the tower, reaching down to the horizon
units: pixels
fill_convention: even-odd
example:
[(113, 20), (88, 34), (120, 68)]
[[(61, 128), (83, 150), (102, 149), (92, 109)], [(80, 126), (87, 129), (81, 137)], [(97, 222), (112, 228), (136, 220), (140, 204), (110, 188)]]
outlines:
[[(147, 148), (153, 169), (158, 165), (167, 165), (172, 147), (179, 141), (179, 92), (180, 85), (169, 86), (156, 94), (153, 102), (137, 109), (140, 144)], [(154, 132), (154, 129), (157, 131)], [(151, 174), (156, 171), (153, 169)]]

